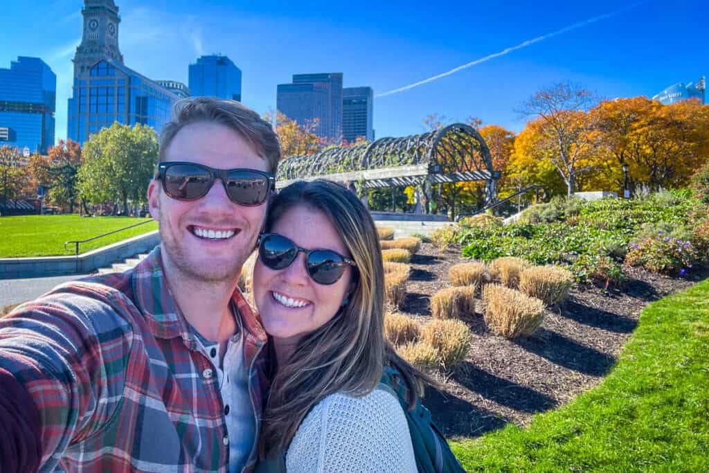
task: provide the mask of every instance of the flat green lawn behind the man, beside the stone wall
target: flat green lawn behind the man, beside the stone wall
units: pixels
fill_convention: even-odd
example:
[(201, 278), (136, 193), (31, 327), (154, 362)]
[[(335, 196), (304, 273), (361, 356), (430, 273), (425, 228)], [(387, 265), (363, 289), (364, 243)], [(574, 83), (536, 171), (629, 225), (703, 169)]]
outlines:
[[(66, 241), (85, 240), (149, 220), (131, 217), (82, 218), (78, 215), (1, 217), (0, 258), (74, 255), (74, 245), (64, 250)], [(152, 230), (157, 230), (156, 222), (84, 243), (79, 246), (79, 252), (96, 250)]]

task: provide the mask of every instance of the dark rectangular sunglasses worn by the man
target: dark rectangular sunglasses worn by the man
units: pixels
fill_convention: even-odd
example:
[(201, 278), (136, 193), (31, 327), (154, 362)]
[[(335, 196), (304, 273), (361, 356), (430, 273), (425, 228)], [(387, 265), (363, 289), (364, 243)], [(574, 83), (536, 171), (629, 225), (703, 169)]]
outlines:
[(165, 194), (181, 201), (206, 196), (214, 180), (219, 178), (224, 191), (236, 204), (259, 206), (275, 188), (276, 178), (258, 169), (214, 169), (194, 162), (160, 162), (157, 165)]

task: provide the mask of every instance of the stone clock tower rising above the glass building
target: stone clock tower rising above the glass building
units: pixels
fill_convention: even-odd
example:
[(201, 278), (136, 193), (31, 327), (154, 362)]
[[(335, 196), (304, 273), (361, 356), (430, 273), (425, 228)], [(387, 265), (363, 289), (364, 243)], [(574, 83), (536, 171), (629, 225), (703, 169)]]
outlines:
[(82, 43), (74, 55), (74, 77), (87, 72), (102, 59), (123, 64), (123, 55), (118, 50), (118, 6), (113, 0), (84, 0), (84, 34)]

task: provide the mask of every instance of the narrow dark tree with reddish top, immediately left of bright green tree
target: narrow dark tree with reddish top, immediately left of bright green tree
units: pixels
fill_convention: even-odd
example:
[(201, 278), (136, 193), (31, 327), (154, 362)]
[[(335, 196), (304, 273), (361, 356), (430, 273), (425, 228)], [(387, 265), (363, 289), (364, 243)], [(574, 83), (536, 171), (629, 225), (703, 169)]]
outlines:
[(82, 167), (82, 148), (72, 140), (59, 140), (48, 152), (48, 174), (52, 189), (50, 192), (53, 204), (69, 207), (69, 213), (74, 212), (79, 191), (77, 179)]

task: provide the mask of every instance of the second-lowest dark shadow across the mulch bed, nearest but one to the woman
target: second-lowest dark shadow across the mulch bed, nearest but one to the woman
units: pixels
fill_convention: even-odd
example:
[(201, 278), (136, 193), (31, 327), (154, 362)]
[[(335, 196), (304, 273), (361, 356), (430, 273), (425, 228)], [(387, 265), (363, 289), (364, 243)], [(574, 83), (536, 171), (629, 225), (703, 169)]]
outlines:
[(537, 413), (557, 406), (553, 398), (508, 379), (496, 377), (470, 362), (459, 365), (453, 378), (485, 399), (515, 411)]

